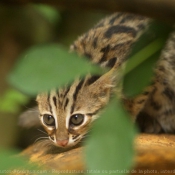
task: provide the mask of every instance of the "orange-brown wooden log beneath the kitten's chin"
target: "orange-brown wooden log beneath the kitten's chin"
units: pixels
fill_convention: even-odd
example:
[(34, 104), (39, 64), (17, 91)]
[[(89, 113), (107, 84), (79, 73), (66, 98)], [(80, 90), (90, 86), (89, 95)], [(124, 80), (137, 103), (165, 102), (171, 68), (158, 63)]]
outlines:
[[(135, 166), (130, 174), (172, 174), (175, 165), (175, 136), (148, 135), (137, 137)], [(61, 171), (86, 172), (84, 148), (79, 147), (65, 152), (35, 143), (22, 155), (29, 156), (30, 162), (48, 168), (51, 173)], [(166, 173), (165, 173), (166, 171)]]

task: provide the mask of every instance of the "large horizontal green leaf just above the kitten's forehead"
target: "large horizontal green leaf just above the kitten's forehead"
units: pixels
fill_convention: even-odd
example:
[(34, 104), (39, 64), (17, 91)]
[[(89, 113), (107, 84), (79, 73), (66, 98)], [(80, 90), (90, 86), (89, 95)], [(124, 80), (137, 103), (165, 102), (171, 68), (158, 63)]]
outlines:
[(59, 45), (35, 46), (21, 56), (9, 82), (23, 92), (35, 95), (64, 85), (79, 75), (97, 73), (97, 70), (97, 66), (92, 66), (87, 59), (80, 59)]

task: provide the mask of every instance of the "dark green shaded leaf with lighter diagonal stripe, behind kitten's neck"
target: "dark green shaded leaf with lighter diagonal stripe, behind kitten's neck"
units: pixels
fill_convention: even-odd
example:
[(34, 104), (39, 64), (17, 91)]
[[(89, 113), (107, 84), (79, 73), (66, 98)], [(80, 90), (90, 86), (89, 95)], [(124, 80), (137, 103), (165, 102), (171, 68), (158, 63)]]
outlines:
[(135, 44), (124, 72), (123, 91), (127, 97), (141, 93), (150, 83), (154, 66), (171, 30), (171, 26), (153, 22)]

